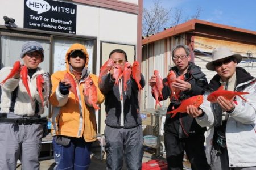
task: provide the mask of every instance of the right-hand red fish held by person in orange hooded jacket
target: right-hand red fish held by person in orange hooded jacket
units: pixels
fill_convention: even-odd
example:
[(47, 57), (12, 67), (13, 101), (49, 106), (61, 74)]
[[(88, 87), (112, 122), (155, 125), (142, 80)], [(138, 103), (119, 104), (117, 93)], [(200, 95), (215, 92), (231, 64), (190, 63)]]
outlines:
[(93, 83), (92, 78), (88, 76), (84, 79), (84, 96), (86, 101), (93, 106), (94, 109), (98, 110), (100, 107), (97, 105), (98, 95), (97, 95), (97, 87)]

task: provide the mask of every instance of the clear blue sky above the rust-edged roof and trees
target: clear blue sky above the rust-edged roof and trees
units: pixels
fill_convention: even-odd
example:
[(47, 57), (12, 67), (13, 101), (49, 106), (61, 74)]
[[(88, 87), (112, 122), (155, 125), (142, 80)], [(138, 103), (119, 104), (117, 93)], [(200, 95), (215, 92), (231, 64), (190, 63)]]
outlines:
[[(256, 31), (255, 0), (159, 0), (164, 8), (183, 10), (183, 16), (195, 14), (196, 7), (203, 11), (198, 19)], [(143, 7), (150, 8), (153, 0), (143, 0)]]

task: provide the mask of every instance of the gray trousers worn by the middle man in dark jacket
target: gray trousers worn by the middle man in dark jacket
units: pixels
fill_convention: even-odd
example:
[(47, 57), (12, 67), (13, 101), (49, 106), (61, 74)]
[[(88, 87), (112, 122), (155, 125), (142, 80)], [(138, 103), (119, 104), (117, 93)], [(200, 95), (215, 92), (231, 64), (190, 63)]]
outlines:
[(144, 153), (142, 125), (130, 129), (106, 126), (104, 135), (107, 169), (122, 169), (123, 158), (127, 169), (141, 169)]

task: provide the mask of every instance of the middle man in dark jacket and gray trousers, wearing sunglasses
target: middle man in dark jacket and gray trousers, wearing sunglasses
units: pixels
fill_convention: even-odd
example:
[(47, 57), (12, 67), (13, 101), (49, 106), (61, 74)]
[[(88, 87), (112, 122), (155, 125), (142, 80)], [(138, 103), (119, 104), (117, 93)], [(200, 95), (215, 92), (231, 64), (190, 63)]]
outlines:
[[(127, 61), (126, 53), (115, 49), (109, 54), (114, 65), (124, 66)], [(99, 87), (105, 95), (106, 128), (105, 151), (107, 169), (122, 169), (123, 158), (127, 169), (141, 169), (143, 156), (143, 134), (139, 114), (139, 88), (133, 77), (127, 82), (127, 90), (123, 91), (123, 78), (118, 79), (119, 86), (114, 85), (112, 70), (102, 76)], [(142, 88), (145, 80), (141, 74), (139, 82)]]

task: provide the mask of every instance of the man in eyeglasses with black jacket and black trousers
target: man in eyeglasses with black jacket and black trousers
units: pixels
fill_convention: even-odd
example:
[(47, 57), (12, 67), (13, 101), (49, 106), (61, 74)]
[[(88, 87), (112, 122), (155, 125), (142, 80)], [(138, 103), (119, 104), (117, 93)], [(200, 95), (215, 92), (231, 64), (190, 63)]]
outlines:
[[(184, 75), (184, 80), (177, 79), (176, 82), (172, 83), (172, 86), (179, 88), (181, 92), (178, 99), (171, 97), (167, 112), (179, 107), (184, 99), (204, 94), (203, 87), (208, 84), (200, 67), (190, 62), (190, 49), (187, 45), (175, 46), (172, 50), (172, 60), (175, 66), (171, 67), (170, 71), (173, 70), (176, 76)], [(171, 96), (171, 90), (165, 82), (167, 82), (167, 78), (163, 79), (163, 100)], [(153, 75), (149, 84), (152, 87), (155, 83), (156, 78)], [(152, 95), (154, 96), (154, 94)], [(204, 151), (204, 132), (207, 129), (201, 128), (195, 118), (188, 114), (177, 113), (175, 117), (171, 118), (171, 116), (172, 114), (167, 114), (164, 124), (164, 144), (166, 146), (168, 169), (183, 169), (184, 151), (193, 170), (209, 169)]]

